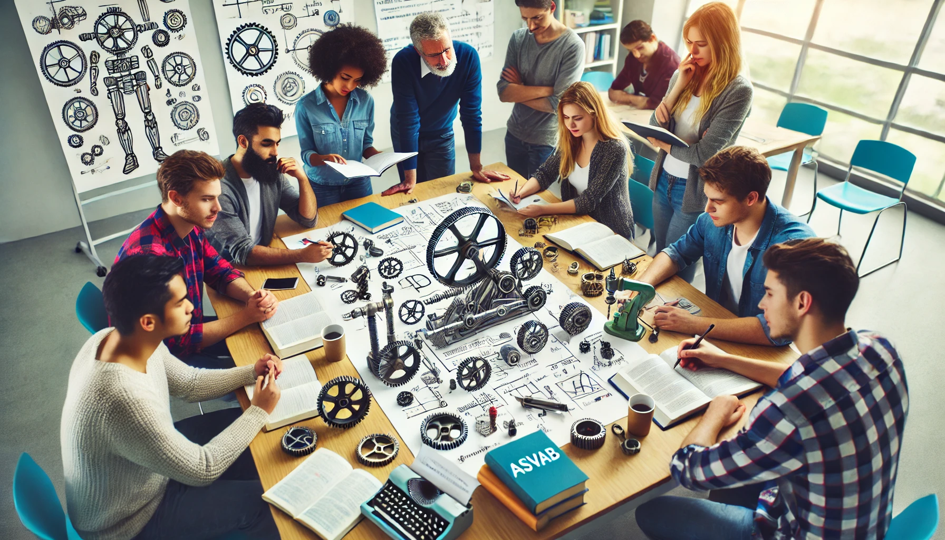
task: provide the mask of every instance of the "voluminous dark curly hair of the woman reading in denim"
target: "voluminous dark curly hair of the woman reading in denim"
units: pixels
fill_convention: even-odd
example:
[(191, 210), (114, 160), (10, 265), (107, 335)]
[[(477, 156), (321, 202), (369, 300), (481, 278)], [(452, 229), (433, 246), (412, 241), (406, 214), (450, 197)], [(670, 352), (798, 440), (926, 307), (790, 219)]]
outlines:
[(344, 66), (364, 71), (361, 86), (374, 86), (387, 71), (384, 43), (369, 30), (353, 24), (340, 24), (325, 32), (308, 49), (308, 69), (315, 78), (329, 82)]

